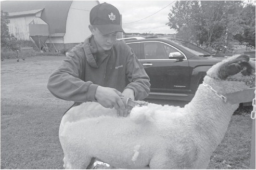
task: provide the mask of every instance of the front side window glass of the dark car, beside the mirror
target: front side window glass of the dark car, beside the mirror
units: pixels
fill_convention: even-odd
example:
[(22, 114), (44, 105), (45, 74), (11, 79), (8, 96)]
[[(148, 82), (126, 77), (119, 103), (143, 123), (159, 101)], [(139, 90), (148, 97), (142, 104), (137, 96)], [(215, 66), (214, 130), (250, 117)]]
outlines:
[(175, 52), (178, 50), (163, 43), (144, 43), (145, 59), (169, 59), (169, 54)]

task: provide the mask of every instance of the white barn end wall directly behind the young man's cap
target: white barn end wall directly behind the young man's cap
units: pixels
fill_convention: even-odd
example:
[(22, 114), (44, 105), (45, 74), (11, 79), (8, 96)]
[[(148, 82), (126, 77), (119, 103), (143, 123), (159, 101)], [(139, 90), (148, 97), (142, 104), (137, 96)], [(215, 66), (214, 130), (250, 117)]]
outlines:
[(97, 1), (73, 1), (67, 17), (64, 43), (81, 43), (91, 35), (88, 28), (89, 11), (98, 5)]

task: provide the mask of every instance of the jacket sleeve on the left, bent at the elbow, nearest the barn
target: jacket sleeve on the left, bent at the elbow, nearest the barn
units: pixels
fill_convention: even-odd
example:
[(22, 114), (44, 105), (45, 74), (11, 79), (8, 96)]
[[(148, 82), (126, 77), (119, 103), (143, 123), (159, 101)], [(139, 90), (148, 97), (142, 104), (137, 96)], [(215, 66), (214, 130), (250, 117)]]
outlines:
[(81, 50), (73, 48), (61, 66), (50, 75), (47, 88), (57, 98), (75, 102), (96, 101), (98, 85), (84, 82), (85, 57)]

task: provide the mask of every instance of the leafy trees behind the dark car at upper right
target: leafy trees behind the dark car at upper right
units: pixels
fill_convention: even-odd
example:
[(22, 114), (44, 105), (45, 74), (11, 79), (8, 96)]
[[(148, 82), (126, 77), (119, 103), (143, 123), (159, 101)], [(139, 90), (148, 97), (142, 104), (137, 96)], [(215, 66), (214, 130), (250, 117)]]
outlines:
[(231, 53), (230, 42), (236, 35), (243, 40), (254, 37), (255, 44), (255, 5), (244, 7), (242, 1), (177, 1), (170, 11), (167, 24), (183, 40), (224, 53)]

